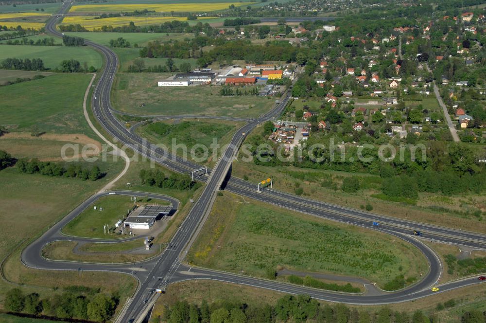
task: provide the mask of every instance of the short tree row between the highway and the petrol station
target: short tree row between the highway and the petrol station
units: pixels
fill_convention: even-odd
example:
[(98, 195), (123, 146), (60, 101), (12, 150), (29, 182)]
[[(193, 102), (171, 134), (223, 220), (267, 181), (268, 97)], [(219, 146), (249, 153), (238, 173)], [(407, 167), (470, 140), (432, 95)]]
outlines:
[(176, 190), (187, 191), (193, 188), (196, 184), (187, 174), (171, 174), (169, 177), (166, 177), (159, 169), (142, 169), (140, 170), (139, 176), (142, 184), (163, 188), (174, 188)]

